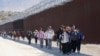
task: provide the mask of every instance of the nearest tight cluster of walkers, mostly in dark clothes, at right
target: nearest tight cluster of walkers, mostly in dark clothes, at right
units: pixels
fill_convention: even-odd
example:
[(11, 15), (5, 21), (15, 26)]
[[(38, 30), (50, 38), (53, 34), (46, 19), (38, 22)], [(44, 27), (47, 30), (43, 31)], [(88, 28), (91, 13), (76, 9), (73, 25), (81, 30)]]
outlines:
[(76, 50), (80, 53), (81, 41), (84, 39), (84, 35), (76, 28), (72, 26), (61, 26), (57, 34), (57, 44), (59, 50), (65, 55), (74, 53)]

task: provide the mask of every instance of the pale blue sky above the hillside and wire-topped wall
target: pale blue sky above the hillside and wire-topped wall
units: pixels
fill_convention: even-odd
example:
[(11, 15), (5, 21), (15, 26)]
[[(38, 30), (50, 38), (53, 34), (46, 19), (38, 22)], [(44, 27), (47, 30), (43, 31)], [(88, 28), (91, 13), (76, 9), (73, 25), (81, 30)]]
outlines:
[(24, 11), (42, 0), (0, 0), (0, 11)]

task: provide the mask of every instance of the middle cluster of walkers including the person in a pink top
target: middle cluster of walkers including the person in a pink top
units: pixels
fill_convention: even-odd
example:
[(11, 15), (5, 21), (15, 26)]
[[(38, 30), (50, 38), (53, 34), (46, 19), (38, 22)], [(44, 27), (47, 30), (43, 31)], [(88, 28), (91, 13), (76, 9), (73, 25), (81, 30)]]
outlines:
[(52, 48), (52, 39), (55, 35), (55, 32), (51, 26), (49, 26), (46, 31), (43, 31), (42, 28), (40, 28), (39, 30), (35, 29), (34, 32), (28, 31), (27, 39), (29, 40), (29, 44), (31, 44), (32, 35), (35, 39), (35, 44), (37, 44), (37, 40), (39, 40), (41, 48), (43, 48), (44, 41), (45, 41), (46, 48), (48, 49)]

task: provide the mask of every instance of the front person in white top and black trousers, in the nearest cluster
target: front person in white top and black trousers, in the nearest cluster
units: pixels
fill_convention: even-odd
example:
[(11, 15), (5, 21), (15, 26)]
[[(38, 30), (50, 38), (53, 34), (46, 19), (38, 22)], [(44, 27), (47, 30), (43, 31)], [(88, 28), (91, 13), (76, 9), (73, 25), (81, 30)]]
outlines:
[(68, 28), (64, 27), (63, 28), (63, 33), (60, 35), (61, 38), (61, 44), (62, 44), (62, 52), (63, 54), (69, 54), (69, 33), (68, 33)]

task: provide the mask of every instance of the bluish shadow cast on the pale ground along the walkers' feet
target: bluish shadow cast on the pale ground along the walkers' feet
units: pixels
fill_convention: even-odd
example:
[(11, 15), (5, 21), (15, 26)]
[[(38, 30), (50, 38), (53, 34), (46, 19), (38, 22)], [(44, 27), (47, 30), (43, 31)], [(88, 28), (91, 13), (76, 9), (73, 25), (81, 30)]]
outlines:
[[(20, 43), (20, 44), (25, 44), (25, 45), (29, 45), (27, 41), (24, 41), (24, 40), (13, 40), (11, 38), (7, 38), (9, 40), (12, 40), (14, 42), (17, 42), (17, 43)], [(42, 56), (51, 56), (49, 54), (52, 54), (52, 56), (63, 56), (63, 54), (59, 51), (59, 49), (57, 47), (52, 47), (52, 49), (47, 49), (45, 46), (43, 48), (40, 47), (39, 44), (35, 44), (35, 43), (31, 43), (30, 46), (34, 47), (34, 48), (37, 48), (38, 50), (41, 50), (45, 53), (48, 53), (47, 54), (42, 54)], [(72, 53), (72, 54), (69, 54), (67, 56), (92, 56), (92, 55), (88, 55), (88, 54), (83, 54), (83, 53)]]

